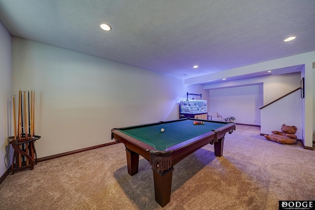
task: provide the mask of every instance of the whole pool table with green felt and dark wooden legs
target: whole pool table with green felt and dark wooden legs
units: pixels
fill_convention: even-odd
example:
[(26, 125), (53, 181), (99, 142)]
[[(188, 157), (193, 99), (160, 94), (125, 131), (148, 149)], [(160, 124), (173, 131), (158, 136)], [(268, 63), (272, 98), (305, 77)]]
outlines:
[(125, 144), (131, 176), (138, 173), (139, 155), (150, 162), (156, 201), (164, 207), (171, 198), (173, 166), (209, 143), (214, 144), (215, 155), (221, 157), (224, 135), (233, 130), (235, 123), (185, 118), (113, 128), (112, 139)]

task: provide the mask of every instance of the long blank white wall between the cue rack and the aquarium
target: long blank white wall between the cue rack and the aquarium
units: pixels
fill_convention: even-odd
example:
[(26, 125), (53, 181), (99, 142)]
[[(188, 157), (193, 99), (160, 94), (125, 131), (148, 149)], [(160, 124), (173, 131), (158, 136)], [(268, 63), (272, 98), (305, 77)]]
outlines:
[(12, 91), (35, 90), (38, 157), (112, 142), (111, 129), (179, 118), (182, 79), (12, 39)]

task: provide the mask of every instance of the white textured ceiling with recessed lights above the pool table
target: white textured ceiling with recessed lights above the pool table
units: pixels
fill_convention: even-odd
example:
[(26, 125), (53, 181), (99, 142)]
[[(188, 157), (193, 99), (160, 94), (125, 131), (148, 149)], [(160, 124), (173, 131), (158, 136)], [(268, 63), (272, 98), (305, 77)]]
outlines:
[(315, 51), (315, 0), (0, 0), (0, 22), (12, 36), (184, 79)]

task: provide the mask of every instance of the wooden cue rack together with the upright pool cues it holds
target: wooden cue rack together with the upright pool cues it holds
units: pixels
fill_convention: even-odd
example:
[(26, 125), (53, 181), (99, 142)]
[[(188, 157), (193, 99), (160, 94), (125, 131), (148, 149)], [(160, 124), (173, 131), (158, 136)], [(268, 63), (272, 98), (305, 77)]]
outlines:
[(19, 90), (18, 119), (16, 120), (15, 96), (13, 95), (14, 136), (8, 137), (9, 144), (14, 149), (11, 171), (34, 169), (37, 164), (35, 141), (41, 137), (35, 135), (35, 91)]

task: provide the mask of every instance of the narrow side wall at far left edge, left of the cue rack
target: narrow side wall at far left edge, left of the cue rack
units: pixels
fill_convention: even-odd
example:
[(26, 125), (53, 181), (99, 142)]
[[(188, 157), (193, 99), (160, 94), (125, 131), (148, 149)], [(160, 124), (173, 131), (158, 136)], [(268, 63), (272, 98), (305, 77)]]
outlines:
[(11, 35), (0, 23), (0, 177), (12, 159), (12, 148), (7, 140), (11, 135), (11, 61)]

